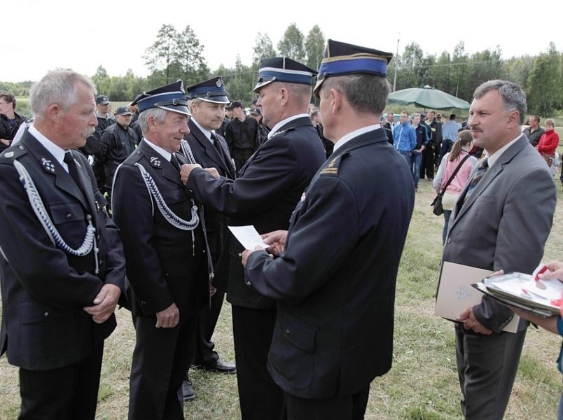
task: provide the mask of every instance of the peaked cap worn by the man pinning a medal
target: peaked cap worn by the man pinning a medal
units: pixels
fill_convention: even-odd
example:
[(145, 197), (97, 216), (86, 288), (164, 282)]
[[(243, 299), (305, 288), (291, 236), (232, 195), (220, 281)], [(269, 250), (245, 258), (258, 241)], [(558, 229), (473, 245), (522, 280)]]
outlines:
[(312, 77), (316, 74), (316, 70), (288, 57), (265, 58), (260, 62), (258, 82), (253, 92), (258, 92), (260, 87), (272, 82), (302, 83), (311, 86)]

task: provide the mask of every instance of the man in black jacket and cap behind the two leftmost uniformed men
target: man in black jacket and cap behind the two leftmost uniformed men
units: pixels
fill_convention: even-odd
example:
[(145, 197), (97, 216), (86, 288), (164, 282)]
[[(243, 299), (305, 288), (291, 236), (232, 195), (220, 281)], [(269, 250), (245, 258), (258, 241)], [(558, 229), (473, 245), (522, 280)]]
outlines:
[[(116, 173), (117, 167), (127, 157), (133, 153), (139, 137), (137, 132), (130, 128), (132, 112), (125, 106), (120, 106), (116, 111), (116, 123), (110, 125), (102, 133), (99, 143), (99, 151), (96, 153), (96, 162), (104, 167), (104, 190), (111, 197), (111, 184), (113, 183), (113, 174)], [(109, 200), (111, 207), (111, 200)]]

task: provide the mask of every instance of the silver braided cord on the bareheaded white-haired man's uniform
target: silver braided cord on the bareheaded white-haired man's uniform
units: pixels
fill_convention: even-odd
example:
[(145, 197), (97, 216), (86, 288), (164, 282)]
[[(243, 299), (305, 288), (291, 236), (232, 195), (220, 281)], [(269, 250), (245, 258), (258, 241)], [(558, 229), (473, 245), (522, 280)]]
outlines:
[(62, 251), (69, 255), (74, 255), (75, 257), (83, 257), (92, 251), (94, 248), (94, 257), (96, 263), (96, 274), (99, 272), (99, 264), (98, 264), (98, 248), (95, 246), (96, 241), (96, 228), (92, 225), (92, 216), (88, 214), (88, 226), (86, 227), (86, 234), (82, 241), (82, 245), (78, 249), (71, 248), (64, 239), (62, 239), (59, 231), (55, 228), (53, 221), (49, 217), (47, 210), (45, 208), (45, 204), (43, 204), (43, 200), (41, 200), (41, 196), (37, 192), (37, 188), (32, 177), (25, 169), (24, 165), (22, 165), (18, 160), (14, 160), (14, 167), (18, 174), (20, 174), (20, 182), (27, 193), (27, 197), (29, 198), (29, 203), (32, 204), (32, 209), (35, 212), (39, 222), (43, 226), (43, 229), (47, 233), (48, 237), (50, 238), (53, 245), (59, 247)]

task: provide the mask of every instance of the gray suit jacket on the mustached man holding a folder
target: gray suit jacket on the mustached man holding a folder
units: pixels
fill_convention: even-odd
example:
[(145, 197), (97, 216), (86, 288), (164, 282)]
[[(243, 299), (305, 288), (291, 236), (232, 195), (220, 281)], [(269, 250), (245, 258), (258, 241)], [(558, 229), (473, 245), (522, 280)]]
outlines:
[[(443, 260), (531, 274), (551, 230), (556, 191), (545, 161), (527, 138), (522, 135), (500, 156), (463, 204), (465, 194), (452, 212)], [(489, 297), (473, 307), (473, 314), (494, 332), (514, 315)], [(519, 330), (526, 326), (521, 321)]]

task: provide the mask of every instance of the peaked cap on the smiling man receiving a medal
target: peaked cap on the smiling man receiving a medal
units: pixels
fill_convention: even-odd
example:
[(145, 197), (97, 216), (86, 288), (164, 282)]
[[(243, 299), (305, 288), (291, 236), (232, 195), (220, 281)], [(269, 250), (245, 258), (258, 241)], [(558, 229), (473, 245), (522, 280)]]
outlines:
[(143, 92), (135, 97), (132, 105), (139, 107), (139, 113), (151, 108), (160, 108), (186, 116), (192, 115), (188, 111), (188, 100), (186, 92), (183, 90), (182, 80)]

